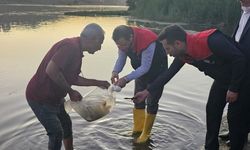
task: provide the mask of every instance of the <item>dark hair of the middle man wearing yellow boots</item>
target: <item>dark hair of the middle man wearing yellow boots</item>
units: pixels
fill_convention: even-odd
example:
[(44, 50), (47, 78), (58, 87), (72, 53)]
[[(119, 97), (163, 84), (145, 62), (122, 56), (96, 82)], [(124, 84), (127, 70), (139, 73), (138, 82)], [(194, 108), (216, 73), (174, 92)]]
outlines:
[(113, 40), (118, 41), (120, 38), (124, 38), (125, 40), (129, 40), (133, 31), (131, 27), (126, 25), (117, 26), (113, 31)]

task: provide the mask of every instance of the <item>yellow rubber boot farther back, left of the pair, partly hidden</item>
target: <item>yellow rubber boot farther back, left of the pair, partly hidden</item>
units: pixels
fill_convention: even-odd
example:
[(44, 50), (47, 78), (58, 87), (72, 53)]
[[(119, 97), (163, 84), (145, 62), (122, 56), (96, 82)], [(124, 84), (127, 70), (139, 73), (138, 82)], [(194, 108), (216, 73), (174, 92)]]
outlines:
[(143, 124), (145, 120), (145, 109), (133, 109), (134, 127), (132, 136), (140, 134), (143, 130)]

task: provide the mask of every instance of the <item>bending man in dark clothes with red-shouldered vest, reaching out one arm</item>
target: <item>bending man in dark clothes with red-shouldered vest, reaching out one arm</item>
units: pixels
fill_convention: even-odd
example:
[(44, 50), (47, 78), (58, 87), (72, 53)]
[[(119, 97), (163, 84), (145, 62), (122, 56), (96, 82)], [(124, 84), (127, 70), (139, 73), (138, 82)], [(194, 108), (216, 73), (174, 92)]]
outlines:
[(191, 35), (176, 25), (166, 27), (158, 39), (166, 52), (175, 59), (168, 72), (162, 73), (147, 90), (137, 93), (134, 101), (142, 101), (152, 91), (164, 86), (185, 63), (191, 64), (214, 79), (206, 107), (205, 149), (219, 149), (221, 117), (228, 102), (231, 150), (241, 150), (246, 134), (246, 118), (242, 109), (246, 98), (241, 89), (245, 79), (246, 59), (234, 41), (216, 29)]

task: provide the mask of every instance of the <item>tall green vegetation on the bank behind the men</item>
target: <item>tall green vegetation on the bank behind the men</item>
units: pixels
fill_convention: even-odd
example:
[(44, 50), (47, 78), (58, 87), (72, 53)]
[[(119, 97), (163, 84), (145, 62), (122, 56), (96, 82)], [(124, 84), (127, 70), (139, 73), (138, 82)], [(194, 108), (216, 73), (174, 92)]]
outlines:
[(132, 16), (167, 22), (233, 26), (240, 16), (238, 0), (127, 0)]

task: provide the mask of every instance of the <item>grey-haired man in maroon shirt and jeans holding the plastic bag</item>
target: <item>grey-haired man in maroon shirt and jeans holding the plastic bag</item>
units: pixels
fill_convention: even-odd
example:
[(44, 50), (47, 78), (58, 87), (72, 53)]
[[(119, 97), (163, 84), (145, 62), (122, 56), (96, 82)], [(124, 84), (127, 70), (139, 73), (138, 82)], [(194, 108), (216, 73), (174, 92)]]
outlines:
[(49, 136), (49, 150), (60, 150), (62, 141), (65, 150), (73, 150), (72, 122), (64, 109), (64, 97), (80, 101), (82, 95), (71, 88), (99, 86), (108, 88), (109, 82), (86, 79), (79, 76), (83, 51), (94, 54), (101, 49), (103, 29), (88, 24), (80, 37), (66, 38), (57, 42), (43, 58), (37, 72), (26, 89), (26, 99)]

